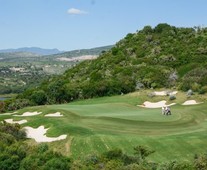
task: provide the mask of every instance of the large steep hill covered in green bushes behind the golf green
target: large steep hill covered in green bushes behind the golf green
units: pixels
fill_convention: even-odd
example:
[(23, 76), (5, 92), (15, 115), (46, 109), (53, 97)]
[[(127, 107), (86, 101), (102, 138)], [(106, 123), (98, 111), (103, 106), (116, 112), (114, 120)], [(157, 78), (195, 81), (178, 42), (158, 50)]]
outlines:
[[(21, 97), (37, 104), (69, 102), (133, 92), (140, 88), (207, 91), (207, 28), (145, 26), (100, 55)], [(35, 97), (41, 93), (44, 101)]]

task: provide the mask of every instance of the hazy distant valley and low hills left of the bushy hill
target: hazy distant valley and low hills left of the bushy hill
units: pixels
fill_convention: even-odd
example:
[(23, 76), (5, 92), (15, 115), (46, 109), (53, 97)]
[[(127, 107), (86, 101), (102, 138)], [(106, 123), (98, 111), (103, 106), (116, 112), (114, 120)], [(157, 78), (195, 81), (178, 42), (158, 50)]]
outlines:
[(97, 58), (111, 47), (44, 56), (31, 52), (0, 53), (0, 94), (20, 93), (28, 87), (37, 86), (44, 79), (62, 74), (83, 60)]

